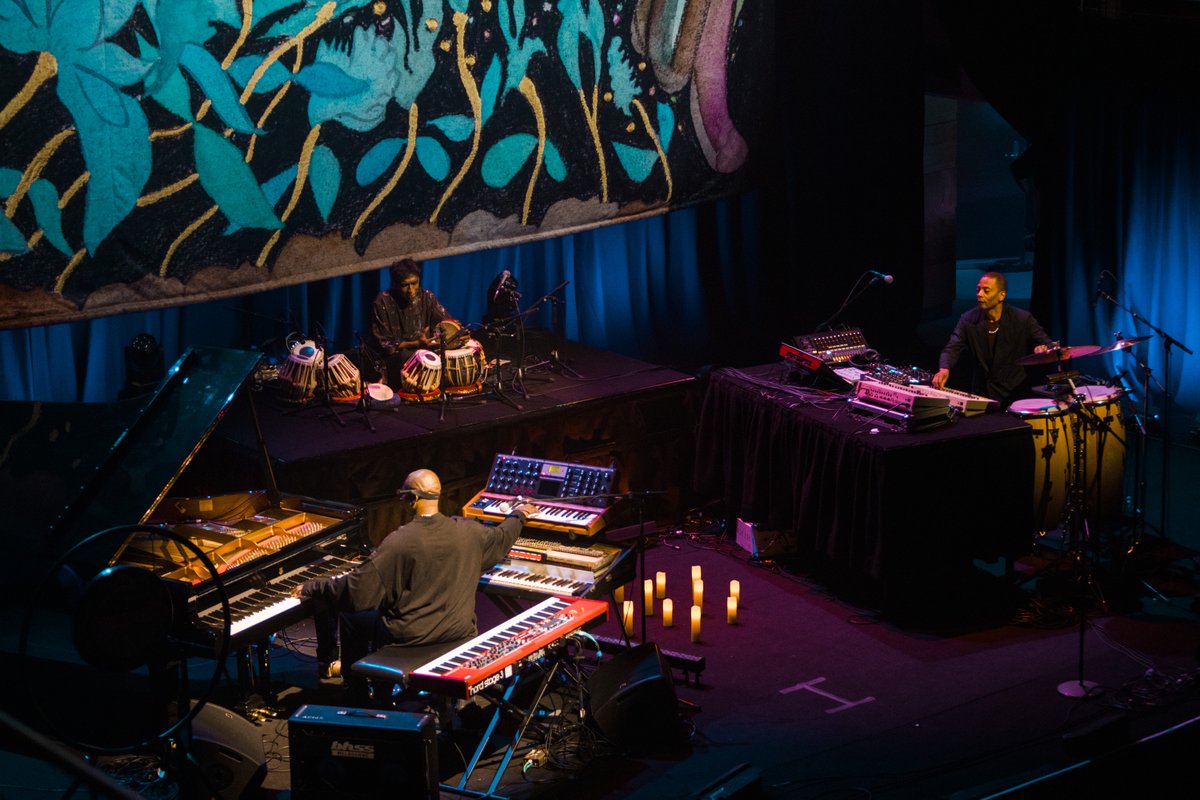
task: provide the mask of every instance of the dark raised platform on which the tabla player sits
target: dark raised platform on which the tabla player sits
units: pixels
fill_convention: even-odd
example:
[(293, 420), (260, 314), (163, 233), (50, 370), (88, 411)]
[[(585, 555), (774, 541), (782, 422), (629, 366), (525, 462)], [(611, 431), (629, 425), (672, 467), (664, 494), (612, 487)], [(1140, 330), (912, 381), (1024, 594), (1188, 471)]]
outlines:
[[(527, 354), (550, 349), (545, 332), (529, 332)], [(443, 513), (460, 513), (484, 487), (496, 453), (511, 452), (613, 465), (617, 492), (666, 492), (647, 506), (648, 519), (678, 519), (690, 501), (695, 378), (577, 342), (553, 349), (568, 369), (527, 369), (528, 396), (512, 387), (505, 368), (504, 392), (520, 408), (484, 392), (366, 415), (336, 403), (338, 421), (320, 404), (298, 409), (268, 391), (254, 392), (276, 482), (287, 492), (365, 505), (370, 536), (378, 542), (406, 521), (395, 492), (409, 471), (437, 471)], [(248, 404), (236, 403), (173, 494), (265, 485), (254, 419)], [(637, 510), (618, 503), (608, 517), (608, 525), (632, 523)]]

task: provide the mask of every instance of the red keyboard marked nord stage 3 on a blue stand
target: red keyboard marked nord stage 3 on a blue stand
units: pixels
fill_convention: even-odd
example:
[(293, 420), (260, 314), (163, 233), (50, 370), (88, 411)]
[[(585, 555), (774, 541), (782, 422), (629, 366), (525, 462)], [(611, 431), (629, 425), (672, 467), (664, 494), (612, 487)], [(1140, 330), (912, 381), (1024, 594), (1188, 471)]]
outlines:
[(458, 699), (510, 678), (521, 662), (540, 658), (547, 646), (592, 620), (607, 616), (601, 600), (547, 597), (408, 675), (408, 685)]

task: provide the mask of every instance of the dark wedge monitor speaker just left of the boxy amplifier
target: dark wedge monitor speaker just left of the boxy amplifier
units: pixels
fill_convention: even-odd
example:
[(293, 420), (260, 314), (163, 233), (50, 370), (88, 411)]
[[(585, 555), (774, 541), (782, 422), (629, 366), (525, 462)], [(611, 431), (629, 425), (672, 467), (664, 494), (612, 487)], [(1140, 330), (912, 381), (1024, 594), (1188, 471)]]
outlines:
[(246, 717), (205, 703), (192, 720), (192, 758), (224, 800), (256, 798), (266, 777), (262, 729)]

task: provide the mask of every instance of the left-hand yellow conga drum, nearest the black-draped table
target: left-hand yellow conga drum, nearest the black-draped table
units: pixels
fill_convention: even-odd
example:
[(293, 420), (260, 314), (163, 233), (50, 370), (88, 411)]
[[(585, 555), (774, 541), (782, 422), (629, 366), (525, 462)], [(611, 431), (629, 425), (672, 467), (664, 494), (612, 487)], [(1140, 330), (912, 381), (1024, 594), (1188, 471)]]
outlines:
[(1070, 486), (1069, 407), (1033, 397), (1013, 402), (1008, 413), (1033, 428), (1033, 523), (1039, 531), (1054, 530), (1062, 522)]

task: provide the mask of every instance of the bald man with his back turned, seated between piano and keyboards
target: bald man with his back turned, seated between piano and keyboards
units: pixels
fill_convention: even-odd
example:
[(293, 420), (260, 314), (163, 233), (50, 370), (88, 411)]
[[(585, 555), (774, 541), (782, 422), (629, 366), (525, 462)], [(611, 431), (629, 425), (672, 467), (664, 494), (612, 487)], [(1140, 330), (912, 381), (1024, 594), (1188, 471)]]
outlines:
[[(416, 646), (478, 636), (479, 578), (504, 559), (534, 512), (532, 505), (517, 504), (497, 525), (446, 517), (438, 511), (442, 481), (428, 469), (410, 473), (397, 494), (413, 503), (412, 522), (388, 534), (352, 572), (294, 590), (314, 603), (322, 678), (341, 674), (342, 663), (353, 664), (385, 644)], [(347, 672), (344, 682), (348, 702), (370, 703), (365, 679)]]

